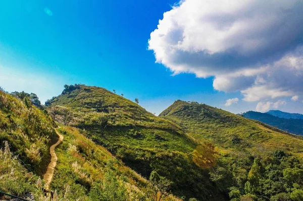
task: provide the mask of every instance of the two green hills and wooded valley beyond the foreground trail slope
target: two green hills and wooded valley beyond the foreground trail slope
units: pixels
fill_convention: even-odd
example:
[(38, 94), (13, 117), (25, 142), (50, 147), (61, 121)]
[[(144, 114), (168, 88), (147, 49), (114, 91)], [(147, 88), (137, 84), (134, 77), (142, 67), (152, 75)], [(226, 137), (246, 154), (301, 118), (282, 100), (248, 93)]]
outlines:
[[(55, 105), (71, 110), (72, 125), (135, 171), (145, 177), (157, 171), (172, 181), (178, 196), (270, 200), (300, 189), (287, 168), (303, 169), (303, 141), (260, 122), (184, 101), (157, 117), (110, 91), (88, 86), (61, 94), (52, 100)], [(209, 146), (197, 146), (207, 142)]]

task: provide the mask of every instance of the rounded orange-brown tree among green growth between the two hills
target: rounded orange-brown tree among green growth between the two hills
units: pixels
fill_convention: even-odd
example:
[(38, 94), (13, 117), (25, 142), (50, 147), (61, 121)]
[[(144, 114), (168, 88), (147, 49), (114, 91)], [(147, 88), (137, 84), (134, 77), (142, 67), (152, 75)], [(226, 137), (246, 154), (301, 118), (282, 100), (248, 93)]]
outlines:
[(214, 167), (217, 163), (218, 153), (214, 144), (205, 142), (196, 147), (193, 152), (193, 161), (200, 168), (208, 169)]

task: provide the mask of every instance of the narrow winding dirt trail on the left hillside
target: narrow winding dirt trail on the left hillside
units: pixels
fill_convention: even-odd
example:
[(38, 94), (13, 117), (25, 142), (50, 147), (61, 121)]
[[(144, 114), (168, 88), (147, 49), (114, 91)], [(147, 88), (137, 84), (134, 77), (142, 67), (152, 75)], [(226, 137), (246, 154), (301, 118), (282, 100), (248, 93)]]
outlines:
[(47, 190), (49, 189), (49, 184), (53, 179), (54, 170), (58, 160), (55, 152), (55, 148), (63, 141), (63, 136), (57, 131), (57, 129), (56, 129), (56, 133), (59, 136), (59, 140), (56, 144), (52, 145), (51, 148), (49, 148), (49, 153), (51, 154), (52, 158), (51, 158), (51, 162), (47, 166), (46, 173), (43, 175), (43, 180), (45, 181), (44, 188)]

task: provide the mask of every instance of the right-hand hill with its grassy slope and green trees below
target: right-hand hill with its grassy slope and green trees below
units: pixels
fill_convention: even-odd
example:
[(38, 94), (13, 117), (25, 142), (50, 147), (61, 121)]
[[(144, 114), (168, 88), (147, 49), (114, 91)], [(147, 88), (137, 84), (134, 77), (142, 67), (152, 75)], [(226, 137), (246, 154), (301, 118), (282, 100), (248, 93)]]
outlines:
[(280, 200), (297, 189), (296, 182), (302, 188), (288, 175), (303, 172), (302, 138), (196, 102), (175, 101), (160, 116), (181, 125), (198, 143), (217, 147), (210, 179), (230, 198)]

